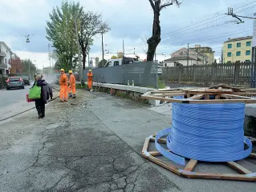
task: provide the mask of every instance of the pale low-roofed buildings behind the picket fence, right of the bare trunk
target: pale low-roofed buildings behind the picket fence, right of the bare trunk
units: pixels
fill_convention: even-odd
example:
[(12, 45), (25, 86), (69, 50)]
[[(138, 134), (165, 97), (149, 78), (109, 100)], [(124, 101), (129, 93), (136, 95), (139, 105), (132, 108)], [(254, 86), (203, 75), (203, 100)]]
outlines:
[(197, 53), (193, 50), (189, 50), (188, 55), (188, 49), (185, 47), (181, 48), (181, 50), (175, 51), (171, 56), (172, 58), (164, 60), (164, 67), (177, 66), (180, 64), (183, 66), (204, 65), (209, 60), (206, 54)]

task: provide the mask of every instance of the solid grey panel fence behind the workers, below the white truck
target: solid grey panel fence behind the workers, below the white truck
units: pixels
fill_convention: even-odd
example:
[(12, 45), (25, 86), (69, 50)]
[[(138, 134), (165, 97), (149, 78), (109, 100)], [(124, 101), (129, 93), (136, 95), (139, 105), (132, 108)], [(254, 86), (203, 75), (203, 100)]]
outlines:
[[(83, 70), (83, 80), (87, 81), (88, 70)], [(93, 81), (134, 86), (157, 87), (157, 64), (135, 62), (121, 66), (109, 66), (92, 70)]]

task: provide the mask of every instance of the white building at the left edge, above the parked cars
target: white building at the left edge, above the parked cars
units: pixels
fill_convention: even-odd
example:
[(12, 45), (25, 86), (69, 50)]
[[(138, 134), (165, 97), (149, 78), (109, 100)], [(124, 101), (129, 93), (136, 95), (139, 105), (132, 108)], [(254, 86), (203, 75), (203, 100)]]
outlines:
[(9, 74), (12, 51), (5, 42), (0, 42), (0, 74)]

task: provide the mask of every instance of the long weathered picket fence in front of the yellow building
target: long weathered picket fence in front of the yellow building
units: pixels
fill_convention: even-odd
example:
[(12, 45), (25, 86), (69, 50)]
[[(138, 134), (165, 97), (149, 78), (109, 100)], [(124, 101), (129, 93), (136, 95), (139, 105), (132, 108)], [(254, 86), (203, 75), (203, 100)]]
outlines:
[(250, 86), (252, 65), (250, 62), (228, 64), (165, 67), (161, 80), (202, 85), (228, 84)]

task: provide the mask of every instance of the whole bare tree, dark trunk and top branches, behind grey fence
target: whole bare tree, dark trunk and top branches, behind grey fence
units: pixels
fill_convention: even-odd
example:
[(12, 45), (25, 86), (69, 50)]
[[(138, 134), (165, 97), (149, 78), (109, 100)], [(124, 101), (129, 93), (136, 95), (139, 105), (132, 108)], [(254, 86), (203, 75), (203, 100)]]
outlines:
[(147, 61), (154, 60), (154, 54), (156, 52), (156, 47), (161, 42), (161, 26), (160, 26), (160, 12), (167, 6), (172, 6), (176, 4), (177, 6), (181, 5), (181, 2), (178, 0), (148, 0), (152, 6), (154, 12), (154, 21), (152, 25), (152, 37), (148, 38), (148, 53)]

